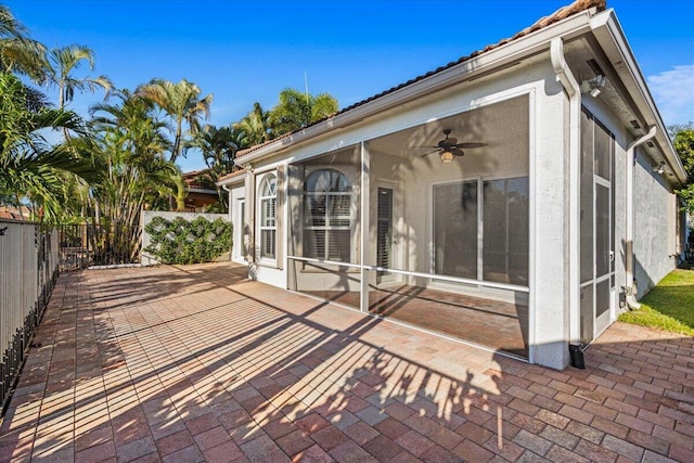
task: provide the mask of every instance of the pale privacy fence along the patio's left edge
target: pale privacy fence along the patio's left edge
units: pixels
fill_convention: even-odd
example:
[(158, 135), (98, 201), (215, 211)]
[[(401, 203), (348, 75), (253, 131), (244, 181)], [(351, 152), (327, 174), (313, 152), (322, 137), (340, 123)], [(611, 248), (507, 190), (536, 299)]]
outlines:
[(59, 232), (0, 219), (0, 402), (12, 385), (57, 278)]

